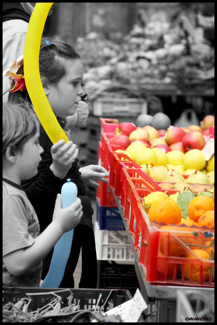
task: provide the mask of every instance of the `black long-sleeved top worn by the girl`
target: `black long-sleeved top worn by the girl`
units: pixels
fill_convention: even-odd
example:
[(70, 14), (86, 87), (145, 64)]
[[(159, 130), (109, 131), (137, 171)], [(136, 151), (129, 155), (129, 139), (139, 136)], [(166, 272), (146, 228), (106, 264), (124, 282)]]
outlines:
[(57, 194), (61, 193), (62, 185), (67, 182), (67, 178), (70, 178), (77, 186), (77, 196), (81, 199), (81, 204), (83, 206), (83, 215), (79, 224), (86, 225), (93, 229), (93, 209), (90, 199), (85, 196), (86, 189), (81, 179), (81, 173), (79, 172), (79, 166), (77, 164), (78, 159), (72, 164), (65, 178), (61, 180), (59, 177), (54, 176), (49, 168), (52, 163), (50, 149), (53, 143), (41, 124), (39, 143), (44, 149), (44, 152), (41, 154), (42, 160), (38, 166), (38, 174), (28, 180), (22, 181), (21, 186), (36, 211), (41, 232), (44, 231), (52, 221)]

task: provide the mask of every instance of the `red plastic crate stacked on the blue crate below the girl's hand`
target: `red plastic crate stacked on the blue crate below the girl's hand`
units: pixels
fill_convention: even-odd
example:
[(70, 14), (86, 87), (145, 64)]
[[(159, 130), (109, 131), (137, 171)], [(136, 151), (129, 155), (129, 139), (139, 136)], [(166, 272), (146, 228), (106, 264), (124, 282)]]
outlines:
[[(104, 178), (108, 181), (107, 176)], [(99, 204), (107, 207), (117, 207), (115, 197), (108, 183), (103, 183), (99, 180), (97, 182), (99, 187), (97, 188), (96, 198), (99, 200)]]

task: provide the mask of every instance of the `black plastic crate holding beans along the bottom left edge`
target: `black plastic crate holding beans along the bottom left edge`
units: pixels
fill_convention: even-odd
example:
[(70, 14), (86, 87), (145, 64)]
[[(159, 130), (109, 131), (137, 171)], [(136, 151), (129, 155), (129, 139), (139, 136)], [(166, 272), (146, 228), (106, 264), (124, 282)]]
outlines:
[[(42, 308), (45, 305), (49, 304), (51, 301), (56, 298), (51, 292), (57, 292), (65, 290), (64, 288), (58, 289), (47, 289), (47, 288), (19, 288), (19, 287), (3, 287), (3, 306), (7, 304), (7, 302), (12, 302), (15, 304), (20, 301), (21, 298), (29, 298), (27, 296), (28, 293), (41, 293), (40, 295), (31, 295), (32, 301), (29, 305), (29, 312), (37, 310), (37, 308)], [(78, 305), (78, 309), (90, 309), (95, 308), (99, 295), (102, 294), (102, 298), (99, 302), (98, 306), (103, 306), (106, 301), (111, 290), (106, 289), (70, 289), (73, 292), (73, 301)], [(47, 294), (45, 294), (47, 293)], [(58, 295), (61, 296), (61, 307), (68, 306), (68, 297), (70, 296), (69, 291), (60, 292)], [(120, 302), (120, 296), (122, 301)], [(109, 302), (114, 303), (114, 307), (120, 305), (120, 303), (126, 302), (132, 299), (132, 296), (128, 290), (113, 290), (110, 297)], [(104, 306), (103, 312), (107, 310), (109, 304), (107, 303)]]

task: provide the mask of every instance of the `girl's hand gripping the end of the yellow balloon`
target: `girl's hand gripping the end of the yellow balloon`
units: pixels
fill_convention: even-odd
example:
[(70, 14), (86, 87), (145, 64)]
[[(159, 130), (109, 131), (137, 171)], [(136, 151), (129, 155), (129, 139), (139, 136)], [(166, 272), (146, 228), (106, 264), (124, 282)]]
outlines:
[(50, 169), (56, 177), (63, 179), (72, 167), (72, 163), (75, 162), (78, 149), (72, 141), (64, 144), (64, 140), (59, 140), (51, 147), (51, 155), (53, 163), (50, 165)]

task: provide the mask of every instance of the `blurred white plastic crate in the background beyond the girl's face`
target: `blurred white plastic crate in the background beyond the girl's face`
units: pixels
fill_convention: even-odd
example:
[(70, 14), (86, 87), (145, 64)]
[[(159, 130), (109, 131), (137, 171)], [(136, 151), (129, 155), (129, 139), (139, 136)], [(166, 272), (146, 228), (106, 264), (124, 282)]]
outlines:
[(138, 116), (147, 114), (147, 100), (143, 98), (96, 98), (89, 101), (89, 109), (95, 116)]

